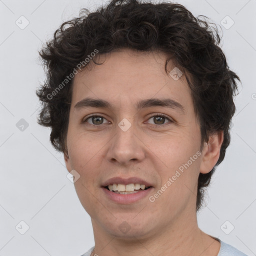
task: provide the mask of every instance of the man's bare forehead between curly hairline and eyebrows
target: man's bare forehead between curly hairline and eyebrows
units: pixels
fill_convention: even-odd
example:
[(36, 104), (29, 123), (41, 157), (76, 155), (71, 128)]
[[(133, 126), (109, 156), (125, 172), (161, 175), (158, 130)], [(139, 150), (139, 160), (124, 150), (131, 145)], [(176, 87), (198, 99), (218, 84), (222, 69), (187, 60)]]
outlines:
[(133, 103), (135, 108), (139, 99), (148, 98), (171, 98), (184, 108), (192, 104), (185, 75), (173, 79), (169, 74), (176, 70), (172, 61), (165, 72), (163, 52), (116, 50), (98, 55), (95, 61), (103, 64), (90, 63), (75, 75), (72, 107), (85, 97), (104, 99), (118, 107)]

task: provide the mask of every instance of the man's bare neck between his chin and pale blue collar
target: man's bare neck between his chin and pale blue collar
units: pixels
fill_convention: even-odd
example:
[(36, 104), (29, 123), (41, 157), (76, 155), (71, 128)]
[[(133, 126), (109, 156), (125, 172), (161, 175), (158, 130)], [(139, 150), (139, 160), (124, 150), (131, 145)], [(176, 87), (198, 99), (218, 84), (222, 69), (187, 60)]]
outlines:
[(146, 235), (134, 233), (129, 237), (110, 234), (92, 219), (95, 249), (92, 255), (99, 256), (147, 256), (175, 255), (217, 256), (220, 243), (202, 232), (197, 225), (196, 214), (179, 216), (170, 224)]

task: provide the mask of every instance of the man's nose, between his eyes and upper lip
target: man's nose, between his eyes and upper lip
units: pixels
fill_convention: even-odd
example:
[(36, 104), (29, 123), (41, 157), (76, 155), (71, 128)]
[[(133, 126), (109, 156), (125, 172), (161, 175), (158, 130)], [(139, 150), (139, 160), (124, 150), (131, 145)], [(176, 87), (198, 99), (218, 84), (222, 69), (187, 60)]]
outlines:
[(115, 135), (109, 141), (107, 159), (121, 165), (128, 165), (133, 161), (140, 162), (145, 157), (145, 145), (139, 137), (134, 124), (125, 130), (116, 125)]

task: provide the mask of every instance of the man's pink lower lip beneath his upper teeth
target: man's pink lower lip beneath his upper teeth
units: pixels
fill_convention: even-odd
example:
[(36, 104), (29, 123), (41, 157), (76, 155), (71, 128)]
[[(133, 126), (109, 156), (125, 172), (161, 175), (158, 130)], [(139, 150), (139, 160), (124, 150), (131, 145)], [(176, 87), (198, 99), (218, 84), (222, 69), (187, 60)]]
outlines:
[(152, 191), (153, 187), (149, 187), (146, 190), (139, 190), (138, 192), (132, 193), (132, 194), (118, 194), (113, 191), (109, 191), (105, 187), (102, 187), (102, 189), (105, 195), (110, 200), (120, 204), (128, 204), (128, 203), (138, 201), (139, 199), (148, 195)]

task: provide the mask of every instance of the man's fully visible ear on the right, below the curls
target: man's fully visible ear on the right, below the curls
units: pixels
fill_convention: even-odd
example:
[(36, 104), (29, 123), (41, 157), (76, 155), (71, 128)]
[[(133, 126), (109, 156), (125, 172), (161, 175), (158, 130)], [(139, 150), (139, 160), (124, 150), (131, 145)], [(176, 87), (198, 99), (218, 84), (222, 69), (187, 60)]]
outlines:
[(210, 135), (209, 141), (207, 143), (205, 142), (202, 150), (202, 161), (200, 164), (201, 173), (210, 172), (213, 166), (216, 164), (219, 158), (222, 142), (223, 131), (219, 131), (213, 135)]

